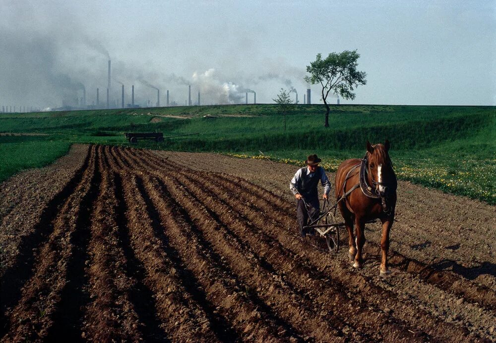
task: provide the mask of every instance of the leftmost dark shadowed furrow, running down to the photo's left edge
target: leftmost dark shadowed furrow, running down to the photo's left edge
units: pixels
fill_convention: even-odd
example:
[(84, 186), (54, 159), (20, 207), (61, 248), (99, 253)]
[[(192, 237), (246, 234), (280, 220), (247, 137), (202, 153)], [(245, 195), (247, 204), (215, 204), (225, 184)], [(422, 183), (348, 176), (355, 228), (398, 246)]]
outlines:
[[(36, 261), (36, 253), (40, 246), (44, 245), (54, 231), (53, 221), (57, 216), (67, 198), (74, 193), (88, 168), (90, 153), (87, 153), (83, 166), (77, 170), (75, 175), (67, 182), (61, 192), (52, 198), (43, 209), (39, 222), (34, 226), (31, 234), (24, 236), (19, 243), (18, 254), (15, 262), (10, 262), (11, 267), (1, 268), (0, 280), (0, 337), (5, 333), (3, 324), (8, 322), (5, 311), (8, 307), (15, 305), (21, 296), (21, 289), (26, 281), (32, 276), (33, 266)], [(12, 258), (12, 256), (10, 256)], [(3, 263), (2, 263), (3, 265)]]

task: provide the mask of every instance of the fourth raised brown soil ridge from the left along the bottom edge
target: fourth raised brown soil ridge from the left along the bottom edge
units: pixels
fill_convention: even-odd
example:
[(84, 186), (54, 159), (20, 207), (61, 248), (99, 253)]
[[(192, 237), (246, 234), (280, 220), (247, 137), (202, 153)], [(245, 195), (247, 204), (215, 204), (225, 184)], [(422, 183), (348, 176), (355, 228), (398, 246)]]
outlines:
[(168, 240), (178, 246), (186, 267), (200, 276), (198, 281), (208, 290), (206, 296), (218, 304), (219, 312), (229, 317), (243, 340), (302, 340), (290, 324), (278, 318), (248, 285), (238, 280), (162, 181), (155, 179), (146, 185), (157, 214), (168, 229)]

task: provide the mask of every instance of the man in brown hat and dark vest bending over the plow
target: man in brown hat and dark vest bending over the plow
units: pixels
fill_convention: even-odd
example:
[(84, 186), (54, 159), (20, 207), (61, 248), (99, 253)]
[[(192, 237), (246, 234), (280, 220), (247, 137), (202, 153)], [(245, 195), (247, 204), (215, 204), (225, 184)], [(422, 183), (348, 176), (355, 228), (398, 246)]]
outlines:
[[(318, 218), (320, 212), (320, 203), (318, 200), (317, 185), (318, 182), (324, 188), (323, 199), (327, 199), (331, 185), (325, 170), (319, 167), (321, 159), (317, 155), (308, 156), (305, 161), (306, 167), (297, 170), (295, 176), (291, 180), (289, 189), (296, 197), (296, 213), (298, 218), (298, 225), (300, 226), (300, 235), (306, 237), (310, 234), (310, 230), (305, 230), (304, 226), (307, 225), (309, 215), (310, 221)], [(307, 208), (305, 208), (305, 203)]]

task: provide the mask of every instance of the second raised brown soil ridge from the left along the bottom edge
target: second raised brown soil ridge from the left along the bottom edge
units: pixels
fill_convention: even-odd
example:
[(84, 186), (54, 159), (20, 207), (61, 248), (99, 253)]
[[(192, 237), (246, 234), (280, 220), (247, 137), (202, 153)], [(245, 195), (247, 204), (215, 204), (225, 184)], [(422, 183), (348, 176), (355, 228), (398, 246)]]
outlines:
[(102, 171), (99, 196), (91, 220), (89, 243), (89, 294), (83, 337), (95, 342), (140, 341), (137, 315), (129, 302), (130, 280), (124, 271), (124, 254), (118, 245), (117, 201), (113, 173), (109, 172), (108, 149), (100, 148)]

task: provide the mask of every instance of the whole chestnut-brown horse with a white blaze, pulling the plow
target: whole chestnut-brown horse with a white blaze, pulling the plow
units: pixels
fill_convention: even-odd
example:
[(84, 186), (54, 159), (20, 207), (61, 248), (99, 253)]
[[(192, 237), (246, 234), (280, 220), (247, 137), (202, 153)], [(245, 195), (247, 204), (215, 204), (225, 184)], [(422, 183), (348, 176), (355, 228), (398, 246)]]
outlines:
[[(361, 268), (363, 263), (362, 249), (365, 244), (365, 223), (377, 218), (382, 222), (381, 275), (388, 273), (389, 230), (393, 225), (396, 206), (396, 175), (388, 151), (388, 140), (384, 145), (376, 144), (374, 146), (367, 141), (365, 157), (362, 160), (354, 158), (341, 163), (336, 172), (335, 184), (337, 200), (346, 192), (351, 191), (349, 195), (339, 201), (338, 206), (348, 229), (349, 256), (351, 261), (355, 261), (353, 264), (355, 268)], [(364, 164), (363, 167), (362, 164)], [(365, 187), (358, 187), (360, 174), (363, 175), (362, 186), (365, 185)], [(352, 190), (353, 188), (354, 190)], [(353, 237), (354, 224), (356, 226), (356, 239)]]

